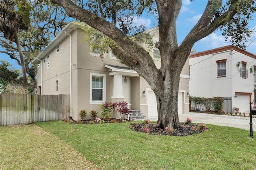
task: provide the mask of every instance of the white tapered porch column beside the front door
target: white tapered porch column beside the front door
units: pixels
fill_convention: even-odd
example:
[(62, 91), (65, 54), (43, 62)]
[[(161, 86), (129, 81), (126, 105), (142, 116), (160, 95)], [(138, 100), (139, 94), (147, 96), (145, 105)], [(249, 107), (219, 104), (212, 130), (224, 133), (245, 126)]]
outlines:
[(123, 96), (123, 86), (122, 86), (122, 75), (114, 75), (114, 85), (113, 85), (113, 96), (111, 98), (124, 98)]

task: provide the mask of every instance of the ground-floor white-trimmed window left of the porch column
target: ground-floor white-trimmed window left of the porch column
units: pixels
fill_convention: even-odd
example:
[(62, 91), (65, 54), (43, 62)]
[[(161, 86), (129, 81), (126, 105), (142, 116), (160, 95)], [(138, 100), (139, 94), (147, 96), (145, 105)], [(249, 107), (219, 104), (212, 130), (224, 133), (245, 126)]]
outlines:
[(90, 73), (90, 103), (101, 104), (106, 101), (106, 75)]

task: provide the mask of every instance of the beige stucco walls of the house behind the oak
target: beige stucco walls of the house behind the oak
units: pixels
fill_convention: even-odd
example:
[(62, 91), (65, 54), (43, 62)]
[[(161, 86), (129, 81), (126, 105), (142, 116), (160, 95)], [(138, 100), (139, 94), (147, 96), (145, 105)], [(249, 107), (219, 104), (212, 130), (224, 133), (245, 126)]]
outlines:
[[(112, 99), (113, 96), (113, 75), (109, 75), (110, 69), (104, 64), (122, 65), (118, 60), (110, 59), (106, 53), (102, 59), (97, 56), (90, 55), (90, 45), (84, 40), (84, 34), (79, 28), (75, 28), (72, 35), (72, 118), (79, 120), (79, 111), (86, 109), (88, 111), (86, 119), (90, 119), (90, 111), (95, 110), (100, 117), (100, 107), (98, 104), (90, 103), (90, 73), (98, 73), (106, 75), (106, 101), (117, 101), (122, 99)], [(154, 34), (158, 34), (155, 32)], [(43, 85), (44, 95), (70, 94), (70, 37), (66, 36), (59, 43), (60, 52), (56, 54), (56, 47), (50, 51), (50, 68), (47, 68), (46, 62), (38, 67), (38, 86), (41, 86), (41, 66), (43, 67)], [(160, 68), (160, 63), (156, 63)], [(187, 61), (182, 70), (182, 74), (189, 75), (189, 63)], [(123, 76), (126, 76), (123, 74)], [(130, 75), (127, 75), (130, 77)], [(58, 92), (56, 92), (56, 81), (58, 80)], [(131, 109), (141, 110), (144, 115), (148, 113), (148, 105), (146, 97), (142, 95), (142, 91), (150, 88), (146, 80), (139, 77), (130, 77), (131, 81)], [(188, 91), (189, 79), (180, 79), (180, 88)], [(184, 113), (188, 113), (188, 97), (184, 99)]]

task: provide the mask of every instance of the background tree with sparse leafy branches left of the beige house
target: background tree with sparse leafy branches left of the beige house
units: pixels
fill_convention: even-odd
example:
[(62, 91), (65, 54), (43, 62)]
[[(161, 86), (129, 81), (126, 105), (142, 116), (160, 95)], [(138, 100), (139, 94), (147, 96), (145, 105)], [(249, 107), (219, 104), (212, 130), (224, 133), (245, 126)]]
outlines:
[[(10, 2), (14, 2), (14, 0)], [(48, 0), (16, 0), (16, 2), (16, 6), (24, 9), (23, 11), (29, 14), (27, 17), (30, 22), (27, 29), (20, 30), (17, 36), (21, 52), (23, 53), (22, 56), (24, 56), (25, 75), (29, 75), (30, 82), (32, 83), (30, 88), (34, 91), (37, 89), (36, 75), (38, 65), (32, 65), (31, 61), (64, 28), (68, 18), (63, 8), (59, 8), (59, 6), (50, 3)], [(29, 8), (21, 4), (21, 2), (26, 2), (26, 6), (29, 6)], [(24, 12), (20, 15), (22, 14), (24, 15)], [(0, 44), (3, 48), (3, 50), (0, 50), (0, 53), (9, 55), (11, 59), (16, 60), (18, 65), (22, 66), (22, 59), (14, 40), (11, 39), (9, 41), (4, 38), (4, 35), (0, 34)]]

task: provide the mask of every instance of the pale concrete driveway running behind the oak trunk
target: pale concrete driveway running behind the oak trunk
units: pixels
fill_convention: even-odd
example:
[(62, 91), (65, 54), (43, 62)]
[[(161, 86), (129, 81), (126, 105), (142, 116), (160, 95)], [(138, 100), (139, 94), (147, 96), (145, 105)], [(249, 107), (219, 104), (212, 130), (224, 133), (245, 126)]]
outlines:
[[(186, 121), (187, 118), (191, 119), (192, 123), (205, 123), (205, 124), (236, 127), (236, 128), (242, 128), (245, 130), (250, 130), (250, 124), (249, 124), (250, 117), (214, 115), (214, 114), (208, 114), (208, 113), (195, 113), (195, 112), (179, 115), (180, 122)], [(157, 117), (146, 117), (145, 119), (149, 119), (150, 121), (157, 121)], [(255, 118), (252, 119), (252, 123), (253, 123), (252, 130), (256, 132)]]

